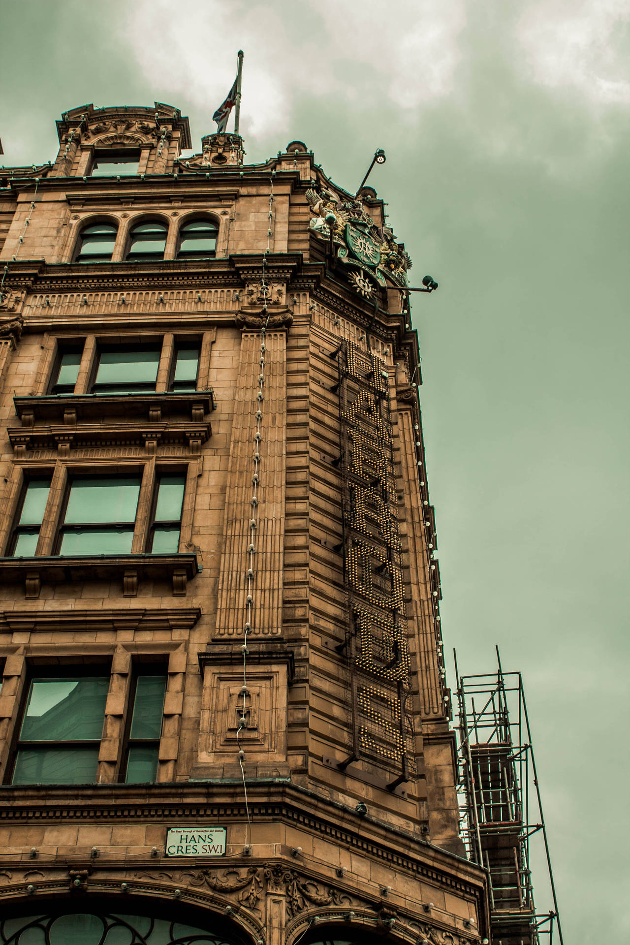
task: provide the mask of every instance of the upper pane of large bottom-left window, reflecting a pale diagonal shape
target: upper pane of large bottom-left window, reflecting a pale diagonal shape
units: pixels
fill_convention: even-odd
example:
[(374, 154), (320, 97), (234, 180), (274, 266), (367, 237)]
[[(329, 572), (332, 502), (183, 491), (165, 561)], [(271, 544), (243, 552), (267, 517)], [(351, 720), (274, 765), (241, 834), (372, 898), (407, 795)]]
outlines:
[(110, 678), (33, 679), (20, 739), (66, 742), (100, 739)]

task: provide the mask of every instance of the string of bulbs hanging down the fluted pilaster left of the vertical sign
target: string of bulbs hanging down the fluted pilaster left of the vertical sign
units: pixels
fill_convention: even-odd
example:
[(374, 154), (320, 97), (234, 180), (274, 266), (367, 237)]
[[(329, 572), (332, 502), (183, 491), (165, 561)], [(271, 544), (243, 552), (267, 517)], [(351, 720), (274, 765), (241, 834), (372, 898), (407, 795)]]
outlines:
[(259, 505), (258, 490), (260, 486), (260, 470), (261, 470), (261, 441), (263, 439), (262, 433), (262, 424), (263, 424), (263, 401), (264, 401), (264, 366), (265, 366), (265, 337), (267, 325), (269, 324), (269, 310), (267, 306), (267, 256), (271, 251), (271, 236), (272, 236), (272, 221), (273, 221), (273, 179), (276, 175), (275, 170), (272, 170), (269, 175), (269, 209), (267, 214), (267, 245), (264, 249), (263, 254), (263, 276), (261, 280), (261, 295), (263, 297), (263, 317), (266, 316), (264, 325), (261, 327), (261, 347), (260, 347), (260, 358), (258, 360), (259, 366), (259, 375), (258, 375), (258, 390), (256, 392), (256, 413), (254, 414), (256, 419), (256, 432), (254, 433), (254, 474), (252, 476), (252, 496), (250, 499), (251, 506), (251, 515), (249, 518), (249, 543), (247, 545), (247, 596), (246, 596), (246, 622), (244, 627), (244, 639), (243, 646), (241, 647), (243, 653), (243, 687), (241, 689), (241, 696), (243, 696), (243, 709), (241, 711), (241, 716), (238, 720), (238, 728), (236, 730), (236, 744), (238, 746), (238, 763), (241, 767), (241, 777), (243, 779), (243, 792), (245, 794), (245, 809), (247, 813), (247, 851), (251, 850), (251, 816), (249, 814), (249, 803), (247, 800), (247, 778), (245, 776), (245, 750), (241, 743), (241, 736), (243, 731), (247, 729), (247, 696), (249, 695), (249, 690), (247, 689), (247, 654), (249, 650), (247, 649), (247, 634), (250, 632), (252, 627), (252, 617), (253, 617), (253, 607), (254, 607), (254, 558), (256, 555), (256, 529), (258, 527), (257, 521), (257, 509)]

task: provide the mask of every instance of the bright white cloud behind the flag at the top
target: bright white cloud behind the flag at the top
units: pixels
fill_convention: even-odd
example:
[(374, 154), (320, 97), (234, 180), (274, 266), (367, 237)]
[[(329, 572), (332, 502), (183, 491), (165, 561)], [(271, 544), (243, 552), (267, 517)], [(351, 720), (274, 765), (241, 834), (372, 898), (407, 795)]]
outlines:
[(332, 0), (316, 7), (221, 0), (137, 0), (121, 38), (129, 43), (148, 82), (167, 78), (209, 117), (227, 94), (236, 52), (246, 52), (244, 95), (248, 133), (287, 127), (304, 95), (358, 104), (383, 100), (403, 109), (449, 94), (465, 26), (464, 0), (404, 0), (395, 16), (383, 5)]

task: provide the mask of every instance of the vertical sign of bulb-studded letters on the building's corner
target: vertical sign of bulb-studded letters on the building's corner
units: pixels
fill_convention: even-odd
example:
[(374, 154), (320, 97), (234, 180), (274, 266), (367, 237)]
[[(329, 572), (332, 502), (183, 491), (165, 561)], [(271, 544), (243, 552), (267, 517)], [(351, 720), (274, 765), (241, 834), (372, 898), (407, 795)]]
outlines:
[(383, 362), (344, 342), (338, 352), (339, 416), (348, 593), (346, 649), (354, 750), (407, 777), (409, 654), (394, 476), (389, 378)]

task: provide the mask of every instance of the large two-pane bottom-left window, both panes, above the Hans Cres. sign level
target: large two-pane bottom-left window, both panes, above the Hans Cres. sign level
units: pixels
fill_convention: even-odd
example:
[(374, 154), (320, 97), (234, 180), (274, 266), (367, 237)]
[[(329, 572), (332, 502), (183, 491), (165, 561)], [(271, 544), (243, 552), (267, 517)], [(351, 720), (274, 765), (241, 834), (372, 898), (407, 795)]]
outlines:
[(94, 672), (31, 679), (12, 783), (94, 783), (109, 687)]

